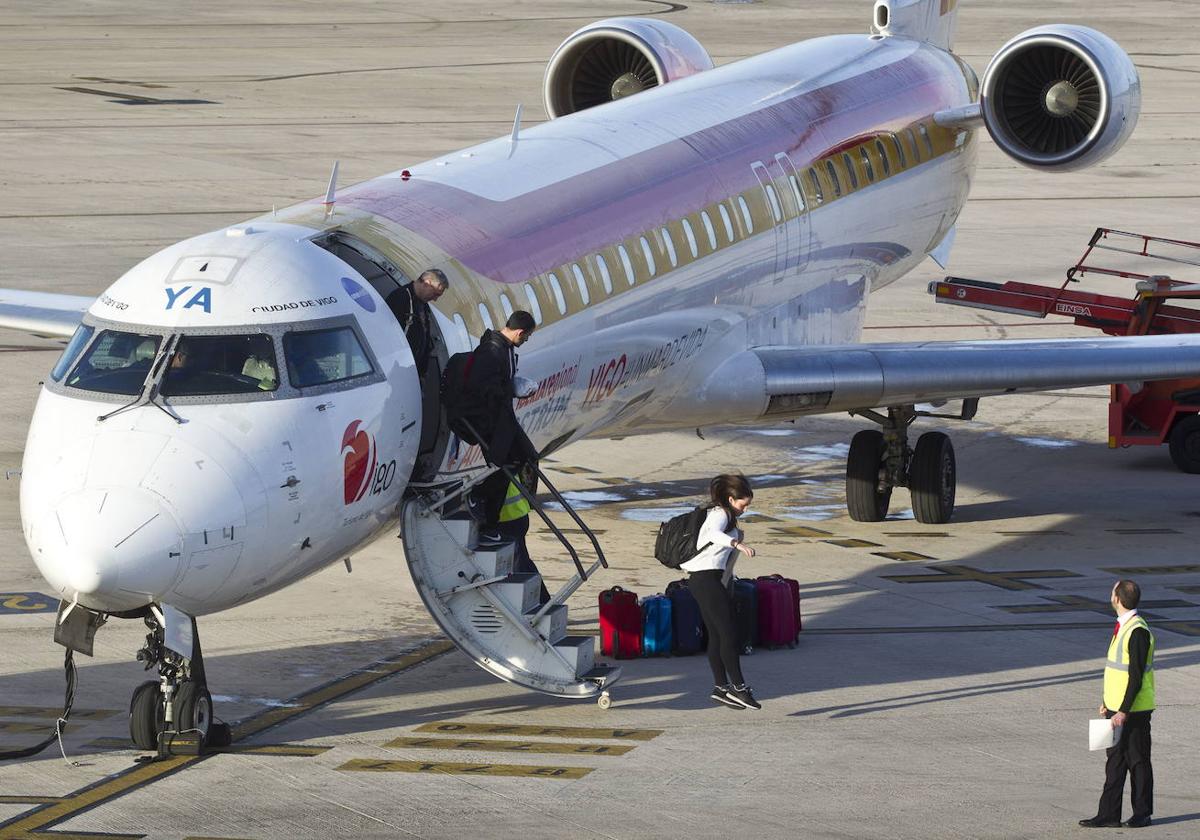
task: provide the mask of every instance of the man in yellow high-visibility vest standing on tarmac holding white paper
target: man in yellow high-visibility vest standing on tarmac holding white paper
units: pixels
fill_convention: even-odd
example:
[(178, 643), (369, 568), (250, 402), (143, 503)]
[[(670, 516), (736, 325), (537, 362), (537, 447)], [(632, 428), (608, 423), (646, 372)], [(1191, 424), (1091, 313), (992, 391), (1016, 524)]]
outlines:
[(1100, 714), (1121, 727), (1121, 738), (1108, 751), (1104, 791), (1096, 816), (1080, 820), (1085, 828), (1121, 826), (1121, 799), (1129, 774), (1133, 816), (1126, 828), (1148, 826), (1154, 810), (1154, 770), (1150, 764), (1150, 716), (1154, 713), (1154, 634), (1138, 614), (1141, 589), (1117, 581), (1109, 598), (1117, 626), (1104, 662), (1104, 703)]

